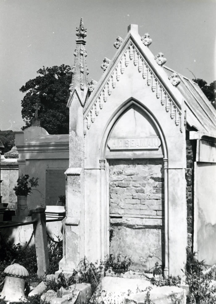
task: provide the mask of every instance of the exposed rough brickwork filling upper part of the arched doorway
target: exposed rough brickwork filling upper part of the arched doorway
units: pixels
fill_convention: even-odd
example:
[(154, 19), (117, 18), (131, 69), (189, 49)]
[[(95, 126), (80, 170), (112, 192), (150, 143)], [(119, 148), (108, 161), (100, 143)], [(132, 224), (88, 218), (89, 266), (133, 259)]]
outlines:
[(128, 225), (162, 225), (162, 160), (112, 160), (109, 163), (110, 223), (121, 224), (124, 218), (131, 218), (127, 219)]

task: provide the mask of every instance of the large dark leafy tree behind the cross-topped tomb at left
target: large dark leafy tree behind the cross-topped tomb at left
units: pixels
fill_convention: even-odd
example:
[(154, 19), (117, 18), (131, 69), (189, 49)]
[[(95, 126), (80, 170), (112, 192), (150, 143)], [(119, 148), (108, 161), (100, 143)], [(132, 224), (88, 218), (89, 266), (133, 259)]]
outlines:
[(22, 118), (26, 127), (30, 127), (35, 116), (35, 104), (39, 106), (38, 118), (41, 127), (44, 127), (49, 134), (69, 133), (69, 85), (72, 79), (69, 65), (60, 65), (37, 71), (39, 76), (30, 79), (20, 88), (26, 93), (22, 106)]

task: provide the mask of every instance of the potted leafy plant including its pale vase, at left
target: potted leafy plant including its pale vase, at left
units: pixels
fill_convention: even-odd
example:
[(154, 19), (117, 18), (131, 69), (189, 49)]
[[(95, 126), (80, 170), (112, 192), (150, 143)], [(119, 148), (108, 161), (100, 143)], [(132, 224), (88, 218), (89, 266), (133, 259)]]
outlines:
[(32, 189), (38, 186), (39, 177), (32, 177), (29, 179), (29, 175), (21, 175), (17, 180), (17, 185), (13, 188), (17, 196), (17, 211), (16, 216), (27, 216), (27, 195), (32, 193)]

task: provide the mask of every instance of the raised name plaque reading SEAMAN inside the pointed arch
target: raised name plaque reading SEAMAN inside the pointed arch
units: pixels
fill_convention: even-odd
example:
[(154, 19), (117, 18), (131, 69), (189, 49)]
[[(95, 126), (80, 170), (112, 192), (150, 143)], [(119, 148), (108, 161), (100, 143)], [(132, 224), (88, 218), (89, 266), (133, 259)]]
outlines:
[(108, 147), (110, 150), (144, 150), (158, 149), (160, 147), (158, 136), (110, 138)]

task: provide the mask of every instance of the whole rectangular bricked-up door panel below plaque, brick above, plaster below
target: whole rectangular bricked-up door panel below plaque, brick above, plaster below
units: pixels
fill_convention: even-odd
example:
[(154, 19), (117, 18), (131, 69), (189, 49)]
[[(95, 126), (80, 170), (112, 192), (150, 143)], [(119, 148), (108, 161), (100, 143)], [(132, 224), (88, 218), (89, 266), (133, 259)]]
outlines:
[(109, 161), (110, 252), (132, 256), (134, 269), (148, 270), (163, 259), (162, 163)]

